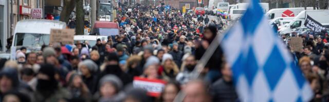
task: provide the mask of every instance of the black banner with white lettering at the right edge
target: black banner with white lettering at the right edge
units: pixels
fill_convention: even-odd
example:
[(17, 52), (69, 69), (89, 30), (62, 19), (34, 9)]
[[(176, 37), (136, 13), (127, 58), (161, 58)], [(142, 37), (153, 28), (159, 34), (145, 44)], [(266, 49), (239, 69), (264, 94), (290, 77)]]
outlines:
[(306, 17), (304, 25), (305, 27), (309, 28), (310, 30), (316, 33), (321, 33), (322, 30), (325, 30), (325, 27), (321, 23), (319, 23), (318, 21), (316, 21), (315, 19), (313, 19), (308, 15)]

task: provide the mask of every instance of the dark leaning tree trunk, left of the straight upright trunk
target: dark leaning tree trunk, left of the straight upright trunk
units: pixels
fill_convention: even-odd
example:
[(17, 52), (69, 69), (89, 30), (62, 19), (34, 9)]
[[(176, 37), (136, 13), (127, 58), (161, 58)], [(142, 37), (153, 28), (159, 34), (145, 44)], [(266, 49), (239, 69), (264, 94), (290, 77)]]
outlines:
[(71, 15), (71, 12), (74, 10), (76, 2), (75, 0), (64, 0), (63, 11), (61, 12), (60, 21), (68, 23), (68, 19)]

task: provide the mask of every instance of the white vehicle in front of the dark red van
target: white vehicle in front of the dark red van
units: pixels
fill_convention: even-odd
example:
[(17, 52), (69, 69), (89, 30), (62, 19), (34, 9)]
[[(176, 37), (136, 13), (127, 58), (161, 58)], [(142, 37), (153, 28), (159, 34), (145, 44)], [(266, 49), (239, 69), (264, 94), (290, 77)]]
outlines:
[(88, 41), (90, 46), (94, 46), (97, 43), (97, 39), (101, 39), (102, 41), (107, 42), (107, 36), (75, 35), (74, 36), (74, 43), (76, 43), (77, 41), (80, 41), (81, 43), (84, 43), (85, 41)]

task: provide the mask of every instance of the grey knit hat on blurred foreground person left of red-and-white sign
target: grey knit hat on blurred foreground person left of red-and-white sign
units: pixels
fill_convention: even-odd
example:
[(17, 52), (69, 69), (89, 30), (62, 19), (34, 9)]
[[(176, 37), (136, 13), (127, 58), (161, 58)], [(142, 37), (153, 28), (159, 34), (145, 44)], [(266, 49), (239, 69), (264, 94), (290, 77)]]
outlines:
[(113, 74), (107, 74), (99, 81), (99, 86), (104, 85), (106, 82), (111, 83), (114, 87), (116, 87), (117, 91), (121, 90), (122, 88), (122, 82), (121, 80)]

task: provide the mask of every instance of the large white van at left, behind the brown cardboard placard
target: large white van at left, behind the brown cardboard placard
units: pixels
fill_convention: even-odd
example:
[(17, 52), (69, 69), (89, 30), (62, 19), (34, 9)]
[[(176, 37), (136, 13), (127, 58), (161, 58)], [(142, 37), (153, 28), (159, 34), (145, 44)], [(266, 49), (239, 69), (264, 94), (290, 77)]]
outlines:
[(66, 23), (55, 20), (28, 19), (16, 23), (11, 47), (26, 47), (27, 52), (40, 50), (49, 44), (51, 29), (65, 29)]

